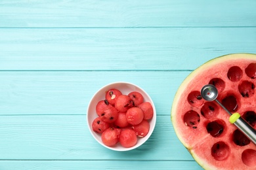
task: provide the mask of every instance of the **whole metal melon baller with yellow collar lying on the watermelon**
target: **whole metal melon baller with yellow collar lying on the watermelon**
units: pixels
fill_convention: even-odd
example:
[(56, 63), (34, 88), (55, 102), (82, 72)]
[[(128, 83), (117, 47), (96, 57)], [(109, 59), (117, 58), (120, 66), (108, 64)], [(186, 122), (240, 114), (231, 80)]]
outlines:
[(218, 90), (215, 86), (211, 84), (203, 86), (201, 95), (206, 101), (216, 101), (230, 115), (229, 122), (238, 127), (238, 129), (240, 129), (240, 131), (242, 131), (242, 133), (244, 133), (248, 139), (256, 144), (256, 130), (253, 129), (253, 127), (248, 124), (238, 112), (232, 114), (230, 111), (228, 111), (228, 109), (226, 109), (226, 107), (221, 104), (221, 102), (217, 100)]

